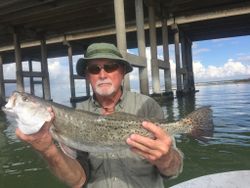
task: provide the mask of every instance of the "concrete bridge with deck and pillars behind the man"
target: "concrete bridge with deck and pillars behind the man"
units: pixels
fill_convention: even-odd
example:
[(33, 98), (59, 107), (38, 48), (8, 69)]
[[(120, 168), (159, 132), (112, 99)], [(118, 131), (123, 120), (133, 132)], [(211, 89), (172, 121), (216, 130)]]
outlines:
[[(68, 56), (71, 101), (85, 99), (90, 95), (89, 83), (85, 84), (87, 96), (76, 96), (75, 80), (84, 78), (74, 74), (73, 56), (83, 54), (93, 42), (116, 44), (132, 66), (139, 69), (140, 92), (160, 96), (173, 95), (168, 46), (174, 44), (176, 95), (182, 96), (195, 92), (193, 41), (250, 34), (246, 22), (250, 20), (249, 2), (75, 0), (53, 5), (30, 2), (22, 6), (19, 3), (0, 3), (1, 98), (6, 97), (8, 83), (15, 83), (16, 90), (24, 91), (23, 79), (28, 77), (30, 92), (35, 94), (34, 85), (42, 84), (43, 97), (51, 100), (47, 59)], [(163, 46), (163, 61), (157, 58), (159, 45)], [(151, 78), (146, 47), (150, 47), (151, 53)], [(138, 55), (129, 54), (128, 48), (138, 48)], [(32, 60), (41, 62), (41, 72), (32, 71)], [(28, 72), (22, 70), (23, 61), (29, 62)], [(16, 79), (6, 79), (2, 73), (3, 64), (11, 62), (16, 63)], [(160, 69), (164, 70), (164, 87), (160, 85)], [(34, 81), (34, 77), (41, 78), (41, 82)], [(149, 80), (152, 80), (151, 93)], [(124, 87), (131, 89), (129, 75)]]

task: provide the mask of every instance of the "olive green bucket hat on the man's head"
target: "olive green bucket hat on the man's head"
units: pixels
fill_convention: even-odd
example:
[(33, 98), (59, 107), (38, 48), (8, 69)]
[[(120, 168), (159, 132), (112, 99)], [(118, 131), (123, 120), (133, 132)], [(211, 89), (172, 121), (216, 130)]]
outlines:
[(91, 44), (86, 51), (85, 57), (80, 58), (76, 63), (76, 72), (80, 76), (85, 75), (85, 69), (90, 60), (94, 59), (111, 59), (125, 66), (126, 74), (133, 70), (130, 63), (125, 60), (117, 47), (109, 43)]

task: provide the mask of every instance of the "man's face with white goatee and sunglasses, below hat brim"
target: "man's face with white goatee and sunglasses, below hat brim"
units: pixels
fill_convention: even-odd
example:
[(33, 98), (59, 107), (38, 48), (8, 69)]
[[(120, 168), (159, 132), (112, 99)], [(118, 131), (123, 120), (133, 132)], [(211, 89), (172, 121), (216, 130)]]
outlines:
[(124, 67), (108, 59), (91, 60), (86, 69), (86, 76), (95, 94), (112, 96), (121, 87)]

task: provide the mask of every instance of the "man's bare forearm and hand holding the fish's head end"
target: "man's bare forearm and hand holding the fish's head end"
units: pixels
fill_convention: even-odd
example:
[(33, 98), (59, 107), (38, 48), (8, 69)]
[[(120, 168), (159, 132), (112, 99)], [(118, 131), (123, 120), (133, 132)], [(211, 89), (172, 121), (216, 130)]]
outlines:
[(49, 129), (55, 119), (55, 114), (52, 108), (48, 108), (48, 111), (50, 112), (51, 120), (46, 122), (39, 132), (26, 135), (17, 128), (16, 135), (21, 140), (31, 144), (35, 150), (42, 154), (50, 169), (60, 180), (67, 183), (70, 187), (82, 187), (86, 181), (85, 171), (77, 160), (65, 155), (54, 144)]

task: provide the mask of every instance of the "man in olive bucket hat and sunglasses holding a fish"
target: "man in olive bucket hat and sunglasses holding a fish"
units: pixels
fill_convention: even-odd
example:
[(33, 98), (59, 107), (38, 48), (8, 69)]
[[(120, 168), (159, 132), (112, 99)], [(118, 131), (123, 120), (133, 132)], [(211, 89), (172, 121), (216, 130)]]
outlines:
[[(79, 108), (103, 115), (120, 111), (163, 119), (161, 107), (152, 98), (123, 89), (124, 76), (132, 66), (114, 45), (90, 45), (76, 71), (86, 76), (94, 93)], [(143, 122), (142, 128), (154, 138), (132, 134), (126, 140), (129, 148), (113, 153), (86, 153), (62, 144), (61, 152), (49, 134), (50, 124), (34, 135), (24, 135), (19, 129), (16, 134), (39, 151), (55, 175), (71, 187), (164, 187), (163, 178), (182, 170), (182, 155), (173, 138), (153, 123)]]

